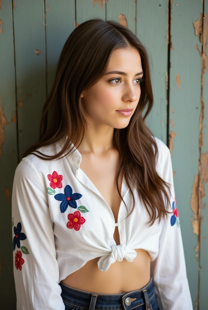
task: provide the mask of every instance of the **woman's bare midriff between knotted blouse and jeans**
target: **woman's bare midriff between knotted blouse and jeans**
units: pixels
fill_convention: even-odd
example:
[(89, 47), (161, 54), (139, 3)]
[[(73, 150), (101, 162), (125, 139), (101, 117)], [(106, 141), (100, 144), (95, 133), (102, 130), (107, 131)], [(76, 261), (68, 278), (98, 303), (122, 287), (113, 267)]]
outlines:
[(112, 263), (106, 272), (98, 269), (98, 258), (88, 261), (79, 270), (68, 275), (63, 282), (78, 290), (98, 294), (122, 294), (139, 290), (150, 281), (150, 255), (135, 249), (132, 262), (123, 259)]

